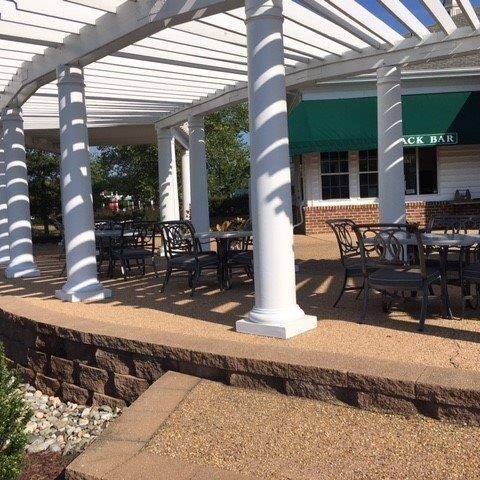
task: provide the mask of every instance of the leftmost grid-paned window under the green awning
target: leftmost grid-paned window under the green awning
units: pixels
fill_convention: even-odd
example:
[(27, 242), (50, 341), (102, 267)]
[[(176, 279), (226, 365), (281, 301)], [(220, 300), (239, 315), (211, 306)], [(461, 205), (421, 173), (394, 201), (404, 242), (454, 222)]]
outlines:
[(321, 154), (322, 199), (350, 198), (348, 152)]

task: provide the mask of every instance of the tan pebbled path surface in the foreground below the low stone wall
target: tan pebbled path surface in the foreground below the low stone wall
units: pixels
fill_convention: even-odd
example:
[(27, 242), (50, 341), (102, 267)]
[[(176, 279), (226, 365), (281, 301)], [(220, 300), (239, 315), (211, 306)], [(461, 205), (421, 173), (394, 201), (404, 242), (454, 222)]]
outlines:
[(150, 452), (262, 480), (474, 480), (480, 428), (202, 381)]

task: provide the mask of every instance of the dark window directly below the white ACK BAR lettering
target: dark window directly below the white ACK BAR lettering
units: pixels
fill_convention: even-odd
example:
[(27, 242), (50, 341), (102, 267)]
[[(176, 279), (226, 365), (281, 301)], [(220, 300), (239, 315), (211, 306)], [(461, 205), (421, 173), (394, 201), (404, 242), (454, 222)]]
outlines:
[(404, 150), (405, 194), (438, 193), (437, 149), (406, 148)]

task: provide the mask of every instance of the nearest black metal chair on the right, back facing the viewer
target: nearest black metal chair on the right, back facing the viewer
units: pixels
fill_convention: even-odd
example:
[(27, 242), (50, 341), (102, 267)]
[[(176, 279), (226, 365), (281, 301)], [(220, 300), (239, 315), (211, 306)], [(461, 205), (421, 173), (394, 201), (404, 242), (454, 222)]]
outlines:
[[(385, 312), (390, 310), (393, 300), (401, 298), (397, 295), (398, 291), (421, 291), (419, 330), (423, 331), (430, 287), (440, 281), (443, 307), (447, 311), (445, 278), (441, 268), (427, 268), (425, 248), (416, 225), (356, 225), (354, 230), (360, 246), (365, 289), (360, 323), (367, 315), (370, 289), (382, 293)], [(387, 301), (388, 298), (390, 301)]]

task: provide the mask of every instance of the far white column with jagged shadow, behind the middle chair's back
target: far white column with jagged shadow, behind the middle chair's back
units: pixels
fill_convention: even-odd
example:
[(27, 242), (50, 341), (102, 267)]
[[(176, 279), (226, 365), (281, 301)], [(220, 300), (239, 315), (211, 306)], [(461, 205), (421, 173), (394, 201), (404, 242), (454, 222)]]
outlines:
[(157, 129), (157, 150), (160, 221), (178, 220), (175, 139), (170, 128)]

